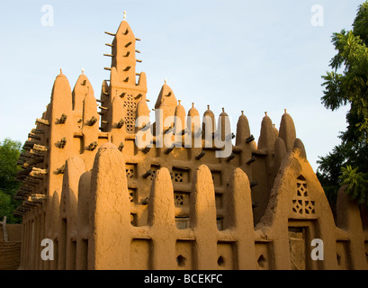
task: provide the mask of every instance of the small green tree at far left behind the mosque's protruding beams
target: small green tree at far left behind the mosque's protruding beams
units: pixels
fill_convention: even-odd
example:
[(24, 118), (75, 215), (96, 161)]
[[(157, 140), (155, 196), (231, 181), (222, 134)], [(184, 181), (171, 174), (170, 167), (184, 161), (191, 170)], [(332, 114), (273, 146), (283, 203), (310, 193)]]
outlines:
[(13, 216), (13, 211), (19, 205), (13, 196), (19, 188), (16, 173), (21, 170), (17, 165), (22, 144), (12, 139), (4, 139), (0, 143), (0, 218), (4, 216), (8, 223), (19, 223), (21, 219)]

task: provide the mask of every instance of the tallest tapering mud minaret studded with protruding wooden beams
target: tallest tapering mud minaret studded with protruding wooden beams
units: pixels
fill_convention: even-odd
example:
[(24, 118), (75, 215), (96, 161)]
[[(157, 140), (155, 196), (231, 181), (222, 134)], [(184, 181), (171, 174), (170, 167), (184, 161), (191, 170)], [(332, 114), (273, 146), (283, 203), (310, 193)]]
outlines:
[[(105, 33), (113, 36), (113, 40), (112, 44), (106, 44), (111, 47), (111, 54), (104, 54), (112, 58), (112, 64), (111, 67), (105, 67), (110, 70), (110, 80), (103, 81), (101, 129), (105, 132), (119, 129), (124, 134), (134, 134), (137, 104), (140, 100), (146, 101), (147, 94), (146, 74), (136, 72), (137, 62), (141, 62), (136, 58), (136, 53), (140, 53), (136, 49), (136, 41), (139, 39), (131, 31), (125, 12), (118, 31), (115, 34)], [(121, 98), (121, 101), (113, 101), (115, 97)], [(112, 105), (113, 102), (119, 104)]]

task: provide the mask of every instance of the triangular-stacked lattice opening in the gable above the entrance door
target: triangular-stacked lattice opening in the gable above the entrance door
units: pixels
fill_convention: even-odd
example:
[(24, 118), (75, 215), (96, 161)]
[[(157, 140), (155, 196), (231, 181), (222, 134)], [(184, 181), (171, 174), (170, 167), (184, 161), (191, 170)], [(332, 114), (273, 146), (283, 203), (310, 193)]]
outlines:
[(292, 211), (301, 216), (315, 214), (316, 202), (310, 200), (307, 181), (303, 176), (297, 179), (296, 197), (292, 200)]

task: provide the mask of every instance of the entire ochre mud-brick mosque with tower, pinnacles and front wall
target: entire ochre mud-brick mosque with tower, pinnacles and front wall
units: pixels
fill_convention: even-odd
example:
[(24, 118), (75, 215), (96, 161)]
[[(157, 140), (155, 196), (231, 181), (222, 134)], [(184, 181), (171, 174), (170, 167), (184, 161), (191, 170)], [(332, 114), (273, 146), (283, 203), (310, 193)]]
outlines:
[[(368, 269), (367, 213), (341, 188), (333, 214), (291, 115), (277, 130), (265, 114), (256, 142), (243, 112), (235, 133), (210, 106), (198, 125), (166, 83), (149, 109), (139, 39), (125, 17), (106, 33), (100, 99), (84, 72), (72, 90), (60, 71), (24, 143), (20, 269)], [(211, 144), (219, 137), (230, 139), (226, 157)]]

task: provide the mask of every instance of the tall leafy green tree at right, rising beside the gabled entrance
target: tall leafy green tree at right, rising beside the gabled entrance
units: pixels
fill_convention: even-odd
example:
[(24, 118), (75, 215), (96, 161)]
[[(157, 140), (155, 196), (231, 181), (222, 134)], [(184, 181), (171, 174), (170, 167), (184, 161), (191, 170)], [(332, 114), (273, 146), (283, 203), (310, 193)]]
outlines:
[(347, 193), (368, 205), (368, 1), (359, 5), (353, 30), (334, 33), (332, 43), (337, 54), (329, 63), (332, 70), (322, 76), (321, 100), (332, 111), (343, 105), (350, 109), (346, 130), (338, 136), (341, 144), (319, 157), (317, 175), (331, 202), (346, 184)]

